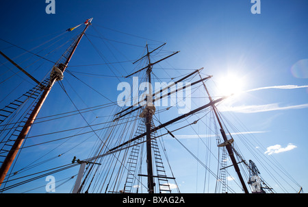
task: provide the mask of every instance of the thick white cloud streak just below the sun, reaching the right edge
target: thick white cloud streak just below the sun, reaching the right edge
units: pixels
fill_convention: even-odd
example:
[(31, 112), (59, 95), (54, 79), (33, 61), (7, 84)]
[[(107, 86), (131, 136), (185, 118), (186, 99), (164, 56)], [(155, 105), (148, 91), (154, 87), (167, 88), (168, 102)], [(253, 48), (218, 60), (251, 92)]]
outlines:
[(308, 108), (308, 103), (294, 105), (294, 106), (279, 106), (278, 103), (270, 103), (264, 105), (251, 105), (251, 106), (225, 106), (220, 109), (220, 112), (240, 112), (240, 113), (257, 113), (268, 112), (273, 110), (290, 110)]

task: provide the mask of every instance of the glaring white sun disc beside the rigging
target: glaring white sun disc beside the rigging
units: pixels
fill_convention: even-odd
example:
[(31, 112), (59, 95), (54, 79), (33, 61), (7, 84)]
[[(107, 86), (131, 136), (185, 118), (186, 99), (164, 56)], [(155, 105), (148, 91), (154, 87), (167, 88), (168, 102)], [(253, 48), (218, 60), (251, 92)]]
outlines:
[(218, 93), (220, 95), (238, 95), (243, 91), (243, 79), (237, 75), (227, 74), (218, 81)]

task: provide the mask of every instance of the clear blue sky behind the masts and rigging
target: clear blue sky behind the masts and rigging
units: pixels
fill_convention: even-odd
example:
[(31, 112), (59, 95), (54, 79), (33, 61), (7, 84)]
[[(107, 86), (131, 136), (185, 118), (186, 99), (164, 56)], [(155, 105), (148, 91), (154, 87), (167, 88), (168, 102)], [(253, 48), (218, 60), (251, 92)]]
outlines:
[[(151, 49), (154, 49), (163, 42), (167, 42), (167, 44), (164, 47), (166, 53), (163, 53), (162, 56), (167, 54), (168, 51), (181, 52), (157, 67), (190, 70), (204, 67), (203, 75), (213, 75), (212, 79), (207, 83), (214, 97), (221, 95), (216, 88), (220, 84), (220, 79), (227, 74), (235, 75), (243, 83), (241, 90), (244, 92), (224, 101), (218, 106), (218, 109), (232, 123), (237, 123), (237, 120), (241, 120), (240, 123), (244, 123), (246, 128), (239, 128), (239, 132), (244, 132), (243, 130), (251, 132), (248, 133), (251, 136), (250, 138), (253, 141), (259, 141), (263, 145), (263, 148), (257, 146), (257, 144), (254, 145), (260, 151), (260, 154), (266, 158), (274, 157), (305, 190), (305, 187), (308, 187), (306, 178), (307, 150), (305, 150), (308, 133), (308, 3), (300, 0), (261, 0), (261, 14), (252, 14), (252, 5), (253, 3), (248, 0), (66, 0), (55, 1), (55, 14), (47, 14), (45, 12), (47, 3), (42, 0), (31, 2), (1, 1), (0, 11), (3, 25), (0, 27), (0, 38), (29, 50), (49, 40), (53, 34), (60, 35), (68, 27), (74, 27), (88, 18), (93, 18), (93, 25), (86, 32), (87, 37), (81, 40), (68, 67), (68, 70), (75, 71), (75, 75), (80, 75), (77, 72), (101, 75), (116, 74), (119, 77), (127, 75), (131, 71), (136, 71), (134, 65), (128, 60), (136, 60), (142, 56), (146, 43), (149, 44)], [(125, 32), (126, 34), (115, 31)], [(134, 36), (127, 34), (133, 34)], [(73, 32), (66, 35), (73, 36)], [(107, 48), (99, 38), (95, 37), (99, 35), (120, 42), (129, 42), (135, 46), (112, 42), (112, 47)], [(110, 66), (79, 66), (103, 62), (101, 56), (87, 38), (94, 42), (94, 45), (97, 45), (102, 52), (101, 55), (107, 62), (128, 62), (110, 64)], [(10, 57), (16, 57), (16, 54), (24, 52), (16, 48), (8, 49), (7, 47), (10, 45), (3, 41), (0, 43), (1, 51)], [(34, 51), (37, 52), (38, 50), (34, 49)], [(49, 58), (56, 61), (59, 53), (49, 56)], [(154, 60), (158, 60), (161, 57), (155, 56), (154, 58)], [(0, 60), (2, 64), (4, 59), (1, 58)], [(16, 59), (17, 62), (22, 62), (22, 60)], [(27, 66), (27, 63), (25, 62), (22, 65)], [(46, 69), (39, 69), (38, 73), (31, 74), (35, 74), (34, 77), (42, 80), (51, 68), (49, 65), (47, 63)], [(10, 65), (7, 64), (7, 66)], [(29, 72), (34, 71), (34, 68), (34, 66), (29, 67)], [(1, 66), (1, 73), (6, 70)], [(161, 69), (155, 70), (154, 68), (153, 71), (157, 77), (162, 78), (177, 77), (179, 74), (183, 75), (189, 72), (185, 70), (168, 70), (168, 75), (170, 75), (168, 76)], [(9, 73), (5, 74), (9, 76)], [(8, 76), (1, 77), (1, 80)], [(127, 81), (123, 78), (95, 77), (93, 75), (80, 75), (78, 77), (82, 78), (84, 82), (91, 83), (91, 86), (97, 88), (101, 94), (112, 101), (116, 101), (118, 95), (117, 84), (120, 81)], [(70, 75), (66, 74), (64, 78), (67, 78), (74, 87), (80, 86), (80, 82)], [(1, 100), (21, 80), (20, 77), (14, 76), (8, 82), (1, 84)], [(130, 80), (127, 82), (131, 83)], [(25, 88), (30, 88), (33, 87), (33, 84), (25, 83), (24, 86)], [(65, 86), (79, 109), (110, 102), (87, 87), (75, 88), (84, 100), (84, 102), (77, 101), (79, 97), (70, 88), (70, 85), (66, 83)], [(8, 90), (5, 90), (5, 88), (8, 88)], [(39, 116), (44, 117), (75, 110), (75, 106), (68, 104), (70, 101), (64, 93), (61, 93), (59, 85), (55, 85), (52, 92), (55, 93), (51, 93)], [(14, 93), (9, 96), (11, 99), (16, 98), (18, 93), (24, 93), (23, 88), (18, 91), (15, 90)], [(200, 92), (198, 95), (203, 94)], [(194, 104), (200, 106), (201, 101), (208, 100), (198, 99)], [(194, 104), (192, 104), (192, 107), (196, 106)], [(2, 106), (5, 106), (5, 101), (1, 103)], [(99, 123), (104, 121), (103, 118), (97, 120), (94, 117), (100, 116), (103, 116), (103, 114), (94, 112), (93, 114), (87, 114), (86, 118), (88, 122)], [(166, 118), (169, 119), (169, 117), (162, 116), (161, 118), (162, 123), (166, 121)], [(57, 125), (45, 126), (45, 130), (53, 132), (79, 125), (79, 123), (74, 124), (71, 123), (70, 119), (64, 119)], [(45, 130), (36, 127), (32, 133), (34, 135), (44, 134), (46, 133)], [(202, 127), (196, 127), (194, 130), (201, 137), (206, 134)], [(175, 132), (175, 134), (200, 158), (204, 156), (201, 141), (196, 138), (195, 132), (181, 130)], [(238, 138), (238, 145), (243, 145), (240, 137), (235, 135), (234, 138), (235, 142), (237, 141), (236, 138)], [(94, 142), (96, 138), (92, 137), (90, 141)], [(37, 142), (39, 143), (40, 141)], [(212, 144), (215, 143), (214, 140), (212, 142)], [(200, 146), (200, 149), (196, 145)], [(48, 148), (47, 146), (49, 145), (41, 145), (40, 147), (45, 150)], [(179, 151), (180, 146), (174, 146), (175, 143), (172, 143), (171, 138), (166, 137), (166, 148), (170, 147), (168, 149), (170, 150), (170, 159), (175, 160), (175, 172), (180, 177), (177, 181), (181, 184), (180, 189), (183, 188), (183, 193), (202, 192), (202, 176), (204, 172), (201, 166), (196, 160), (191, 161), (189, 154), (177, 159), (175, 154), (181, 153)], [(243, 154), (246, 150), (249, 152), (249, 149), (244, 149), (243, 146)], [(274, 151), (276, 153), (271, 153), (272, 151), (266, 153), (267, 150), (276, 150)], [(80, 149), (80, 154), (81, 151)], [(84, 151), (88, 156), (88, 152)], [(59, 153), (61, 152), (59, 151)], [(63, 163), (67, 163), (67, 160), (69, 162), (72, 156), (73, 153)], [(249, 155), (246, 159), (250, 159)], [(194, 168), (200, 168), (198, 175), (192, 176), (194, 177), (193, 180), (189, 180), (188, 171), (185, 173), (185, 169), (178, 167), (179, 163), (185, 160), (190, 162), (190, 165)], [(262, 167), (259, 168), (262, 169)], [(72, 173), (74, 172), (77, 173), (77, 168)], [(235, 174), (232, 175), (236, 176)], [(60, 180), (59, 177), (56, 178)], [(198, 183), (197, 187), (196, 182)], [(44, 180), (41, 183), (43, 185)], [(72, 182), (70, 181), (70, 183)], [(18, 192), (21, 191), (23, 189)], [(44, 191), (44, 188), (42, 191)], [(60, 187), (59, 191), (62, 191)], [(294, 190), (290, 191), (294, 192)]]

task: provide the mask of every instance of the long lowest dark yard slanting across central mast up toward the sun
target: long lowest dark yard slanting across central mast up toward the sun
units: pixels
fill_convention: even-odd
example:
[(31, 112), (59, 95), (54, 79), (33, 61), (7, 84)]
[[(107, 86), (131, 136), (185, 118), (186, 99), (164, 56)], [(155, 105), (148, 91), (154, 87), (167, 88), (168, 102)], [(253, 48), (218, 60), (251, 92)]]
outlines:
[[(203, 110), (203, 109), (205, 109), (205, 108), (207, 108), (209, 106), (212, 106), (212, 105), (214, 105), (214, 104), (216, 104), (216, 103), (218, 103), (218, 102), (220, 102), (220, 101), (222, 101), (224, 99), (227, 99), (227, 97), (222, 97), (220, 99), (216, 99), (214, 101), (210, 101), (209, 103), (205, 104), (204, 106), (196, 108), (195, 110), (192, 110), (192, 111), (190, 111), (190, 112), (188, 112), (186, 114), (183, 114), (183, 115), (181, 115), (181, 116), (179, 116), (179, 117), (177, 117), (175, 119), (172, 119), (170, 121), (167, 121), (166, 123), (163, 123), (163, 124), (161, 124), (161, 125), (159, 125), (157, 127), (152, 128), (151, 132), (156, 132), (157, 130), (159, 130), (159, 129), (163, 128), (163, 127), (166, 127), (167, 125), (170, 125), (171, 123), (175, 123), (175, 121), (179, 121), (181, 119), (184, 119), (185, 117), (188, 117), (188, 116), (190, 116), (190, 115), (192, 115), (192, 114), (194, 114), (194, 113), (196, 113), (196, 112), (198, 112), (200, 110)], [(129, 141), (126, 141), (125, 143), (122, 143), (122, 144), (120, 144), (120, 145), (110, 149), (109, 151), (114, 151), (115, 149), (118, 149), (119, 147), (123, 147), (124, 145), (127, 145), (127, 144), (131, 143), (132, 141), (136, 141), (138, 138), (141, 138), (143, 136), (146, 136), (146, 133), (140, 134), (140, 135), (136, 136), (135, 138), (131, 138)]]

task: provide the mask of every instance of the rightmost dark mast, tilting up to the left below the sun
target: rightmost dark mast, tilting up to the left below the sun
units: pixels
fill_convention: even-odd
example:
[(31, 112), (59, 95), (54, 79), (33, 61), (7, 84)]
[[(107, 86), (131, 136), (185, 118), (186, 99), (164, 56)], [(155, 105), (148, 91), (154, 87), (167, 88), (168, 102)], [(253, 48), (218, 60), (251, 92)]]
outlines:
[[(200, 73), (199, 73), (199, 76), (200, 76), (200, 78), (202, 78), (201, 75), (200, 75)], [(205, 86), (204, 83), (203, 83), (203, 86), (204, 86), (204, 88), (205, 88), (205, 90), (206, 90), (206, 92), (207, 92), (207, 95), (209, 95), (209, 91), (207, 90), (207, 87)], [(212, 101), (211, 95), (209, 95), (209, 101)], [(226, 133), (224, 132), (224, 129), (223, 129), (223, 127), (222, 127), (222, 123), (220, 122), (220, 119), (219, 119), (219, 117), (218, 117), (218, 113), (217, 113), (217, 110), (216, 110), (216, 106), (212, 105), (211, 107), (213, 108), (214, 114), (215, 114), (216, 119), (217, 119), (217, 121), (218, 121), (218, 123), (219, 123), (219, 126), (220, 126), (220, 134), (222, 135), (222, 138), (224, 139), (224, 142), (225, 142), (225, 143), (228, 143), (228, 138), (227, 138)], [(235, 157), (234, 157), (234, 153), (233, 153), (233, 149), (232, 149), (232, 147), (231, 147), (231, 144), (227, 144), (227, 145), (225, 145), (225, 147), (226, 147), (226, 149), (227, 149), (227, 151), (228, 151), (228, 154), (229, 154), (229, 157), (230, 157), (231, 162), (232, 162), (232, 164), (233, 164), (233, 167), (234, 167), (236, 173), (238, 174), (238, 178), (240, 179), (240, 182), (241, 182), (241, 184), (242, 184), (243, 190), (244, 190), (245, 193), (248, 193), (247, 186), (246, 186), (246, 184), (245, 184), (245, 182), (244, 182), (244, 179), (243, 179), (243, 177), (242, 177), (242, 174), (241, 174), (241, 172), (240, 172), (240, 168), (238, 167), (238, 162), (236, 162), (236, 160), (235, 160)]]

